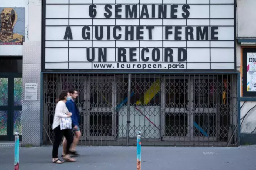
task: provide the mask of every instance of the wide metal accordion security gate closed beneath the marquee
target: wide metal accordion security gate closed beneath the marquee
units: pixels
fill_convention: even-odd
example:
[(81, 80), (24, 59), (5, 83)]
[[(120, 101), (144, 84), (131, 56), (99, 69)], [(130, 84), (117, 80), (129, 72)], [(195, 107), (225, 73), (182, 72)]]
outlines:
[(79, 145), (136, 145), (141, 131), (148, 146), (237, 146), (237, 86), (237, 74), (43, 74), (43, 144), (75, 88)]

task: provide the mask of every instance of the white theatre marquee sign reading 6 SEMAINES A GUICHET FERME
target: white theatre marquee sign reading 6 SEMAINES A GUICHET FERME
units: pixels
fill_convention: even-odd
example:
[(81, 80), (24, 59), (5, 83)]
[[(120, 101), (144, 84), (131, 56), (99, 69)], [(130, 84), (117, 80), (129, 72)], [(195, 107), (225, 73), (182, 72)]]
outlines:
[(45, 69), (235, 69), (234, 0), (46, 0), (45, 6)]

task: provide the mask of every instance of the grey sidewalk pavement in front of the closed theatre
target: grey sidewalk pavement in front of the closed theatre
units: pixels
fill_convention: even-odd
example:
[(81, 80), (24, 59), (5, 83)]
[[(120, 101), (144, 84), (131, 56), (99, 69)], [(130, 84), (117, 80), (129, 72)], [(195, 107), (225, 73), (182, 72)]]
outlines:
[[(136, 147), (77, 147), (75, 163), (51, 163), (52, 147), (20, 148), (19, 170), (135, 170)], [(62, 148), (59, 148), (61, 156)], [(256, 146), (142, 147), (142, 170), (255, 170)], [(14, 148), (0, 148), (0, 170), (14, 169)]]

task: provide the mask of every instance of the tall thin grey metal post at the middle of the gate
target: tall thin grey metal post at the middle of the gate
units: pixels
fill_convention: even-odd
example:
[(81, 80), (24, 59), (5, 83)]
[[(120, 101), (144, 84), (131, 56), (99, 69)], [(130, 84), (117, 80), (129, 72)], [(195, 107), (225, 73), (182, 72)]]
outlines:
[(129, 134), (130, 134), (130, 104), (131, 104), (131, 82), (132, 75), (128, 77), (128, 96), (127, 96), (127, 124), (126, 124), (126, 146), (129, 146)]

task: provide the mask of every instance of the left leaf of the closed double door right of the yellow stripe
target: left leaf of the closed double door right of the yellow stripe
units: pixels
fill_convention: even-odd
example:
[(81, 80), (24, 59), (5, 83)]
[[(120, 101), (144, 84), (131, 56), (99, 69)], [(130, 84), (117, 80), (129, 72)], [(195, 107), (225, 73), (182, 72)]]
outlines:
[(165, 141), (187, 141), (189, 137), (189, 79), (164, 77), (162, 84), (162, 134)]

